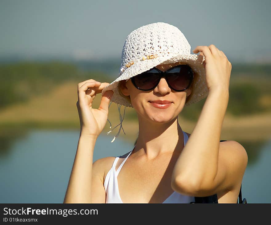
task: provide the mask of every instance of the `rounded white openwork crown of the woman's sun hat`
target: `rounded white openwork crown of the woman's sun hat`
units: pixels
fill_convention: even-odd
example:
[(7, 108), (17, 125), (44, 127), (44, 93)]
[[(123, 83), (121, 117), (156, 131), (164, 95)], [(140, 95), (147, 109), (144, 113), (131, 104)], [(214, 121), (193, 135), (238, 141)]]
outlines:
[(122, 49), (119, 73), (121, 74), (121, 68), (127, 63), (147, 55), (189, 55), (190, 50), (190, 44), (177, 27), (164, 22), (144, 25), (127, 36)]

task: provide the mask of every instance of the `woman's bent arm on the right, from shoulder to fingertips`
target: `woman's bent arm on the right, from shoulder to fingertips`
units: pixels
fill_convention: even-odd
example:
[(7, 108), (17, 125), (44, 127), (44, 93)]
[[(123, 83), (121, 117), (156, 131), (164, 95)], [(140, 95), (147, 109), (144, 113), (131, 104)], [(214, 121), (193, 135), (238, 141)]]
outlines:
[(177, 192), (202, 197), (240, 185), (248, 158), (237, 141), (220, 143), (229, 101), (231, 63), (214, 45), (197, 46), (193, 52), (205, 56), (209, 93), (197, 124), (175, 164), (171, 184)]

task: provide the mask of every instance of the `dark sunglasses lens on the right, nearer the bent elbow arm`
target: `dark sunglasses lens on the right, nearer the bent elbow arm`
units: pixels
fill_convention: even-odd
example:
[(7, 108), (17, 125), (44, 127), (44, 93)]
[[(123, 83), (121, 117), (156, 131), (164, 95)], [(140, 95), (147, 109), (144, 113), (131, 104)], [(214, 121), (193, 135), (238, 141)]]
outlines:
[(168, 83), (176, 90), (187, 89), (192, 79), (192, 69), (189, 66), (173, 68), (168, 71)]

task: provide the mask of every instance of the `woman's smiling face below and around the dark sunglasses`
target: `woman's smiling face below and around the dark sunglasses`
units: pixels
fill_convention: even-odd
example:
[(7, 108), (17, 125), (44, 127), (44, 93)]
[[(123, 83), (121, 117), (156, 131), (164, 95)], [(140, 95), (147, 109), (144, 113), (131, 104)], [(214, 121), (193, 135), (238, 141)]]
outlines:
[[(160, 64), (156, 68), (166, 71), (176, 65), (185, 64), (182, 62)], [(161, 78), (159, 84), (150, 91), (137, 89), (129, 79), (120, 81), (120, 89), (123, 95), (130, 96), (131, 103), (139, 116), (156, 122), (168, 122), (175, 119), (184, 108), (186, 98), (191, 94), (191, 86), (183, 92), (172, 90), (165, 78)], [(171, 105), (168, 108), (156, 108), (150, 102), (154, 100), (168, 100)]]

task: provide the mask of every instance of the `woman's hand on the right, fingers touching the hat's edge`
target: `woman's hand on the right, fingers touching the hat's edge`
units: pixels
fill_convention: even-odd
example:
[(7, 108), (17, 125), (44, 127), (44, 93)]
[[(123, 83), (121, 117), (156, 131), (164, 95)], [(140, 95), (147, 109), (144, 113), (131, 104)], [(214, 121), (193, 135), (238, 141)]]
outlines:
[(213, 44), (209, 46), (197, 46), (194, 53), (200, 52), (205, 56), (203, 62), (206, 74), (206, 84), (209, 91), (217, 88), (229, 90), (229, 80), (232, 64), (223, 51), (220, 51)]

